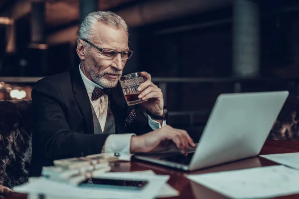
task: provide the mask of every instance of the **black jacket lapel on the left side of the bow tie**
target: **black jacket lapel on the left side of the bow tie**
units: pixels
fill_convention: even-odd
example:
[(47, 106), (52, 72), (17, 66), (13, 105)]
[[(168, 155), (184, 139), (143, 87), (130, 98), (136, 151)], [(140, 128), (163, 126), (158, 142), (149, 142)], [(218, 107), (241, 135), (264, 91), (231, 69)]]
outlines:
[(77, 101), (86, 121), (87, 133), (93, 134), (94, 126), (91, 109), (92, 107), (78, 68), (72, 71), (72, 87), (74, 98)]

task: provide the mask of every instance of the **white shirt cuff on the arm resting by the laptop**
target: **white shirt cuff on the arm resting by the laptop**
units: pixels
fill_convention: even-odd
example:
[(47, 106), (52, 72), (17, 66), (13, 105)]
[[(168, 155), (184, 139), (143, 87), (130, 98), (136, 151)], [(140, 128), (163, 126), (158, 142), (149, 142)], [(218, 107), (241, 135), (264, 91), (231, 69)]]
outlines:
[(104, 152), (114, 156), (114, 153), (119, 153), (119, 159), (130, 161), (131, 137), (136, 136), (134, 133), (126, 134), (111, 134), (107, 137), (104, 145)]

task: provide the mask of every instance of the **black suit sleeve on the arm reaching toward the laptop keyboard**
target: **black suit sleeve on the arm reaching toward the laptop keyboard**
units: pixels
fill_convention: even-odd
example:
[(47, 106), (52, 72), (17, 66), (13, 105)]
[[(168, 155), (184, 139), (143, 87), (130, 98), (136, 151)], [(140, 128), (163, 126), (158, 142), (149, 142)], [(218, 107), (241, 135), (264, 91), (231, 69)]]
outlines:
[(44, 78), (32, 90), (33, 140), (49, 159), (63, 159), (101, 153), (107, 134), (73, 132), (65, 117), (65, 103), (59, 87)]

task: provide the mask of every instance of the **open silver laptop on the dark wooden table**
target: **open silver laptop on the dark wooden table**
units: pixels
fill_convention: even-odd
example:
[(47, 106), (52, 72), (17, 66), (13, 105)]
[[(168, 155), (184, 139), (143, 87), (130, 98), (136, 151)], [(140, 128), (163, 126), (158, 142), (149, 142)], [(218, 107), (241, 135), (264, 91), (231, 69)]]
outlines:
[(135, 158), (193, 171), (257, 156), (288, 96), (288, 91), (221, 94), (196, 148), (187, 156), (162, 152)]

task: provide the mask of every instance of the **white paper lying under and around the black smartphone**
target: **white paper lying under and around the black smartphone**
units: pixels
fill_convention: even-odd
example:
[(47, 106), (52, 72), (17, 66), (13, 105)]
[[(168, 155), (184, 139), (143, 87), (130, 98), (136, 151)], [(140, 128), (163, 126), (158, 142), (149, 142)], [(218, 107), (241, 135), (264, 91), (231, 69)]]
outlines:
[[(95, 176), (101, 177), (102, 175)], [(127, 173), (115, 175), (113, 172), (103, 174), (103, 177), (111, 179), (132, 179), (132, 180), (147, 180), (149, 184), (141, 191), (121, 190), (121, 189), (95, 189), (72, 186), (68, 184), (53, 182), (45, 178), (38, 178), (23, 185), (13, 188), (14, 192), (24, 194), (43, 194), (46, 196), (57, 196), (59, 198), (84, 198), (84, 199), (154, 199), (158, 196), (159, 190), (163, 187), (169, 176), (161, 175), (141, 175)], [(32, 195), (32, 196), (33, 196)]]

